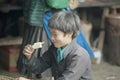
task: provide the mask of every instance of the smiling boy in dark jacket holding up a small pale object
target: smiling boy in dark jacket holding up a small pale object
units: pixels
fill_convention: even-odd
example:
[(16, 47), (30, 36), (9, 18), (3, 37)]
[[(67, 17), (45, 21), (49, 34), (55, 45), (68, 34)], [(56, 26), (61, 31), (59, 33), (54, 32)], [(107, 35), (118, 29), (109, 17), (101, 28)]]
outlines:
[[(53, 44), (39, 59), (34, 58), (30, 44), (24, 48), (28, 71), (42, 73), (51, 67), (55, 80), (92, 80), (91, 61), (87, 51), (76, 40), (80, 20), (75, 13), (60, 11), (50, 18), (49, 28)], [(23, 77), (17, 80), (29, 80)]]

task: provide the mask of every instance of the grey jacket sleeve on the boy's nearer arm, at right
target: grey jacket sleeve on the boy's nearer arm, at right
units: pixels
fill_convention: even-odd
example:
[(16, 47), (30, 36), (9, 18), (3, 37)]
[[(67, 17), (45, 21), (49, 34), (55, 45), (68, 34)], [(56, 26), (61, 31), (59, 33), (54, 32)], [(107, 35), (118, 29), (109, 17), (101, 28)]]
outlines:
[(79, 54), (69, 57), (65, 71), (57, 80), (91, 80), (89, 75), (91, 63), (88, 54), (82, 51), (76, 51), (76, 53)]

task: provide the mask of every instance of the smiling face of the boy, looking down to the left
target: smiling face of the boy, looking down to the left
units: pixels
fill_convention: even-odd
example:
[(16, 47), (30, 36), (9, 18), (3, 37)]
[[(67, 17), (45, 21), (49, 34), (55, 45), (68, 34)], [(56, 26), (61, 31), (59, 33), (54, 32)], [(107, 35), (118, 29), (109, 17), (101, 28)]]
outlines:
[(50, 29), (53, 44), (56, 48), (68, 45), (72, 40), (72, 33), (64, 34), (60, 30)]

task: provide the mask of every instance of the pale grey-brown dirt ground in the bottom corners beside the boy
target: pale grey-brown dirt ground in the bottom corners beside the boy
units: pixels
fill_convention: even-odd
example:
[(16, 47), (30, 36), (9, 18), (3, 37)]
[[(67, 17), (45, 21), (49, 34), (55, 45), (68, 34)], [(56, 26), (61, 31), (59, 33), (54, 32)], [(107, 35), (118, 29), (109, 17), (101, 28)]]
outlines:
[[(92, 64), (93, 80), (120, 80), (120, 66), (111, 65), (107, 62)], [(0, 75), (11, 77), (21, 76), (17, 72), (7, 72), (0, 68)]]

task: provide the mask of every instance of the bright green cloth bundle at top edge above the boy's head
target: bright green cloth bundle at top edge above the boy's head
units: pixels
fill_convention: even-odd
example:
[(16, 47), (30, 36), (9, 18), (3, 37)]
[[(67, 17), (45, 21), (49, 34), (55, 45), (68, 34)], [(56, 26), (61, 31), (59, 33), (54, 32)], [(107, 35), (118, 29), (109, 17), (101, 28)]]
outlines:
[(55, 9), (69, 7), (68, 0), (46, 0), (47, 5)]

